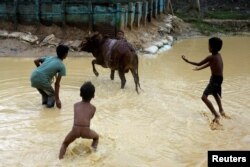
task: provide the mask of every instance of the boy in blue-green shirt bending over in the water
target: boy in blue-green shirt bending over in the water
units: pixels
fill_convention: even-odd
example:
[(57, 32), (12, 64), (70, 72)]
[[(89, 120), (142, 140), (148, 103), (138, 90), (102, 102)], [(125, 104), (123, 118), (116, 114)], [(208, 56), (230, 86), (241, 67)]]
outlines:
[[(61, 77), (66, 75), (66, 68), (63, 60), (68, 55), (69, 48), (65, 45), (59, 45), (56, 48), (57, 56), (45, 56), (34, 60), (37, 68), (32, 72), (30, 81), (31, 86), (36, 88), (42, 95), (42, 104), (48, 108), (62, 107), (59, 98), (59, 89)], [(51, 86), (55, 77), (55, 90)]]

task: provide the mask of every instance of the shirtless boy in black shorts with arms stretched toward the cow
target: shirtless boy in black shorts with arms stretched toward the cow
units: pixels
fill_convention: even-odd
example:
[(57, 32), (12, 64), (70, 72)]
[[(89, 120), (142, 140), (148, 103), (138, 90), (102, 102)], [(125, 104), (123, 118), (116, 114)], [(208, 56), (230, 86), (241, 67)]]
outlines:
[(207, 85), (206, 89), (203, 92), (203, 95), (201, 97), (202, 101), (207, 105), (209, 110), (214, 115), (213, 122), (219, 124), (220, 116), (215, 111), (213, 104), (210, 100), (208, 100), (208, 95), (213, 95), (218, 107), (220, 115), (225, 118), (230, 118), (226, 116), (222, 104), (221, 104), (221, 84), (223, 81), (223, 60), (219, 53), (219, 51), (222, 48), (222, 40), (217, 37), (213, 37), (209, 39), (209, 52), (212, 53), (212, 55), (207, 56), (204, 60), (200, 61), (199, 63), (189, 61), (185, 56), (182, 56), (182, 59), (192, 65), (198, 66), (194, 70), (202, 70), (204, 68), (210, 67), (211, 69), (211, 77), (209, 84)]

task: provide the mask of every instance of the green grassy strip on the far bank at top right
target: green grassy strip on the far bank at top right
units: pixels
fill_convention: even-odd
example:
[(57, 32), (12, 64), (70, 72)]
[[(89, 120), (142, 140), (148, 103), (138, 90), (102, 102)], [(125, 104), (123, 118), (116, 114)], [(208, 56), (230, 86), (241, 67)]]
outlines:
[[(190, 12), (179, 10), (176, 15), (206, 35), (219, 32), (249, 31), (247, 20), (250, 19), (250, 13), (248, 13), (250, 11), (247, 10), (209, 10), (200, 14)], [(241, 21), (239, 22), (239, 20)]]

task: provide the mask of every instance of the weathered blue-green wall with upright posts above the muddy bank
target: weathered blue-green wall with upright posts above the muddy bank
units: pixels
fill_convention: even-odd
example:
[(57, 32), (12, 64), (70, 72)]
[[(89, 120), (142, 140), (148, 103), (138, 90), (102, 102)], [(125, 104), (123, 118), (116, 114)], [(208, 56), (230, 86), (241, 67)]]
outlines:
[(116, 33), (145, 25), (166, 13), (167, 4), (168, 0), (1, 0), (0, 21), (73, 24)]

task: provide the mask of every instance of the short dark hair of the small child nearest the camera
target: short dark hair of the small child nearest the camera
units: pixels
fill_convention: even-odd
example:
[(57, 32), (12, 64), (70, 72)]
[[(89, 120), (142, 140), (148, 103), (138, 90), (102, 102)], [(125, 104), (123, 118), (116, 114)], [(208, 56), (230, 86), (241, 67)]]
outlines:
[(95, 95), (95, 86), (90, 82), (84, 82), (80, 89), (80, 96), (85, 101), (90, 101)]

